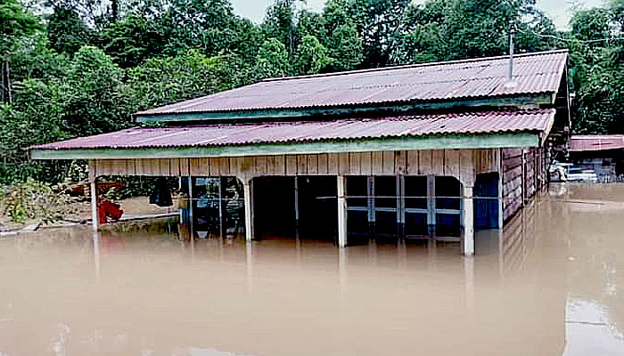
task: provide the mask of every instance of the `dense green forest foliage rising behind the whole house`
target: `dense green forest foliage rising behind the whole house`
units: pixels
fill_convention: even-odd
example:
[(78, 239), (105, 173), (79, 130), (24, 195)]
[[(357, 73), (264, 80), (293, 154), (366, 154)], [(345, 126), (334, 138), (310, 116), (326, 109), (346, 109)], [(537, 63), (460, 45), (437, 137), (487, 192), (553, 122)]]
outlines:
[(229, 0), (0, 0), (0, 183), (58, 182), (30, 145), (118, 130), (139, 109), (265, 77), (571, 50), (579, 133), (624, 133), (624, 0), (556, 31), (534, 0), (275, 0), (255, 25)]

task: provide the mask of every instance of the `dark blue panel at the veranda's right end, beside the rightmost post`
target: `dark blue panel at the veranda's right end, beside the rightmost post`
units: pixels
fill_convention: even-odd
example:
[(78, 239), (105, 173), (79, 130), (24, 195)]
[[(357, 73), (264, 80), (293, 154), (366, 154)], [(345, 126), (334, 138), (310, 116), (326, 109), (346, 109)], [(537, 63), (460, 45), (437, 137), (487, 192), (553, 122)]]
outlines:
[(498, 227), (498, 174), (477, 174), (474, 182), (474, 228)]

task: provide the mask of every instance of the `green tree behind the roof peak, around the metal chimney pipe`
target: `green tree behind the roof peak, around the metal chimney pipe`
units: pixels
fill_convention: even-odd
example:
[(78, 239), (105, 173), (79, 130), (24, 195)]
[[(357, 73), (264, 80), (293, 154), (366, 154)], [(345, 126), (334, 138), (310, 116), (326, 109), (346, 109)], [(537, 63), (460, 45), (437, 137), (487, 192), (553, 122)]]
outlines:
[(558, 35), (532, 0), (431, 0), (411, 5), (403, 22), (391, 60), (398, 63), (505, 54), (512, 29), (517, 52), (552, 49)]

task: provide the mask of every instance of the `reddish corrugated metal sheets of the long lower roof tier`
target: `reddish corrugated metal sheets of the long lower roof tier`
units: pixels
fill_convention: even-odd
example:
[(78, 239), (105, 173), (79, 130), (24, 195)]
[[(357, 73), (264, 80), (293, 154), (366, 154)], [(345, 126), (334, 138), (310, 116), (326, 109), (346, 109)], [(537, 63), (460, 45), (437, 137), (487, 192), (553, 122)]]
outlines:
[(445, 134), (546, 132), (555, 109), (498, 110), (421, 116), (212, 124), (127, 130), (31, 147), (34, 150), (137, 149), (322, 142)]

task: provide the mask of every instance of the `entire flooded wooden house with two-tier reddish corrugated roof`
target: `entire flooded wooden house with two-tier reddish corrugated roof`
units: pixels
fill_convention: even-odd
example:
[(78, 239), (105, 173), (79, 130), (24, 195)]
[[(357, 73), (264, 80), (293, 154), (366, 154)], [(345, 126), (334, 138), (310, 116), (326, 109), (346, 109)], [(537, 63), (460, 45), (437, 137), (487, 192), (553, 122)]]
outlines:
[[(266, 79), (135, 114), (160, 125), (30, 154), (88, 159), (93, 187), (102, 175), (181, 177), (191, 221), (216, 220), (222, 231), (235, 220), (225, 202), (241, 198), (249, 241), (292, 231), (339, 247), (444, 239), (472, 255), (475, 229), (501, 229), (546, 185), (547, 162), (570, 132), (567, 57)], [(216, 205), (206, 204), (208, 185), (218, 186)]]

